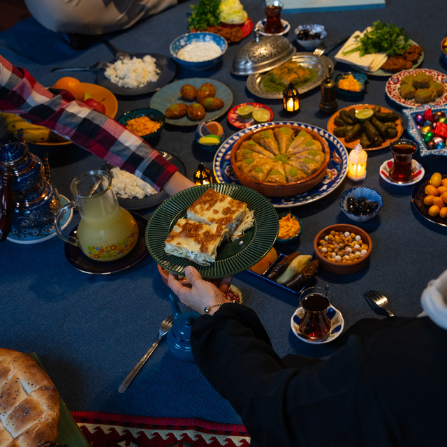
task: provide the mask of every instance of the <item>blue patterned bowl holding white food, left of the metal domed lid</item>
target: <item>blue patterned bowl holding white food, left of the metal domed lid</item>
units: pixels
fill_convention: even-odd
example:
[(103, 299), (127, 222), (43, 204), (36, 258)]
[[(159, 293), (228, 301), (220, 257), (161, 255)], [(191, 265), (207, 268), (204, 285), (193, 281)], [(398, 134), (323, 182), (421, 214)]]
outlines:
[[(192, 42), (214, 42), (221, 49), (221, 54), (218, 57), (214, 57), (214, 59), (209, 59), (207, 61), (200, 62), (189, 62), (184, 61), (183, 59), (179, 59), (177, 57), (177, 53), (186, 45), (189, 45)], [(228, 48), (228, 43), (226, 40), (219, 36), (219, 34), (214, 33), (206, 33), (203, 31), (197, 33), (189, 33), (183, 34), (182, 36), (177, 37), (169, 47), (170, 54), (173, 59), (177, 62), (177, 64), (184, 66), (185, 68), (189, 68), (190, 70), (207, 70), (208, 68), (213, 67), (214, 65), (219, 64), (219, 62), (223, 58), (223, 54), (225, 54), (226, 49)]]

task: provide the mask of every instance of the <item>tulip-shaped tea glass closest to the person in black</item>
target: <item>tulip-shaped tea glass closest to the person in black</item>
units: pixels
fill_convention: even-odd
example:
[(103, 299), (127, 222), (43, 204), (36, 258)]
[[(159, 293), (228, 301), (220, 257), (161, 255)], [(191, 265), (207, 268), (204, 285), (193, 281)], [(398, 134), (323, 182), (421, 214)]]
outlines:
[(305, 311), (300, 321), (300, 332), (309, 339), (324, 339), (330, 332), (327, 312), (332, 303), (332, 295), (330, 292), (324, 294), (324, 288), (310, 287), (300, 295), (300, 305)]

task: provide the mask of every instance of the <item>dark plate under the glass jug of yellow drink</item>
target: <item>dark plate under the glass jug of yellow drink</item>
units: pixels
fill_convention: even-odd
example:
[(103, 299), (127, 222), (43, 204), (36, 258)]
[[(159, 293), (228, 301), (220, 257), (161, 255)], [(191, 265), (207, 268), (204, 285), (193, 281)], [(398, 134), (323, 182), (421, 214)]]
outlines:
[[(82, 253), (79, 247), (76, 247), (73, 244), (68, 244), (68, 242), (66, 242), (64, 251), (65, 257), (67, 258), (68, 262), (71, 263), (71, 265), (73, 265), (73, 267), (80, 272), (91, 274), (109, 274), (121, 272), (122, 270), (132, 267), (132, 265), (135, 265), (136, 263), (142, 261), (142, 259), (144, 259), (149, 254), (149, 251), (147, 251), (145, 240), (147, 219), (140, 214), (136, 214), (135, 212), (130, 213), (135, 218), (138, 224), (138, 242), (129, 254), (126, 254), (126, 256), (118, 259), (117, 261), (108, 261), (106, 263), (101, 261), (93, 261), (92, 259), (87, 258), (87, 256)], [(75, 235), (77, 229), (78, 226), (73, 228), (70, 235)]]

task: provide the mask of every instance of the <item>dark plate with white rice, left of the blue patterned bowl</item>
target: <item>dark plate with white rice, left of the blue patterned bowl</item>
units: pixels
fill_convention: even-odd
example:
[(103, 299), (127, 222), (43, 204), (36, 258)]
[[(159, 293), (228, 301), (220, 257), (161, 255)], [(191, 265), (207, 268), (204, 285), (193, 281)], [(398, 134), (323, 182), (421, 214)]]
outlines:
[(175, 63), (161, 54), (133, 54), (99, 71), (96, 83), (115, 95), (137, 96), (161, 89), (175, 76)]

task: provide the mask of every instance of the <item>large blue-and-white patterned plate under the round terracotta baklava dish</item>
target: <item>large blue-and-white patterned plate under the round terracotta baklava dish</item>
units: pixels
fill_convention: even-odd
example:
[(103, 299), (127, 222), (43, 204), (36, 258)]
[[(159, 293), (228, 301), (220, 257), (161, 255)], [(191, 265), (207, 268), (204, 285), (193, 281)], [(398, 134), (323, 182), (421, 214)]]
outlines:
[(231, 135), (230, 138), (227, 138), (217, 150), (212, 163), (214, 177), (216, 177), (217, 182), (240, 184), (235, 176), (235, 173), (233, 172), (233, 168), (231, 167), (230, 155), (233, 145), (240, 137), (242, 137), (242, 135), (256, 129), (261, 129), (261, 127), (272, 126), (272, 124), (302, 126), (304, 129), (309, 129), (309, 131), (316, 132), (318, 135), (325, 138), (328, 142), (330, 150), (328, 173), (324, 179), (314, 188), (296, 196), (268, 197), (268, 200), (275, 208), (293, 207), (314, 202), (315, 200), (319, 200), (324, 196), (327, 196), (343, 182), (344, 177), (346, 177), (346, 174), (348, 173), (348, 151), (344, 145), (342, 145), (342, 142), (334, 135), (328, 131), (325, 131), (324, 129), (321, 129), (320, 127), (294, 121), (256, 124), (255, 126), (251, 126), (247, 129), (242, 129), (242, 131), (236, 132)]

